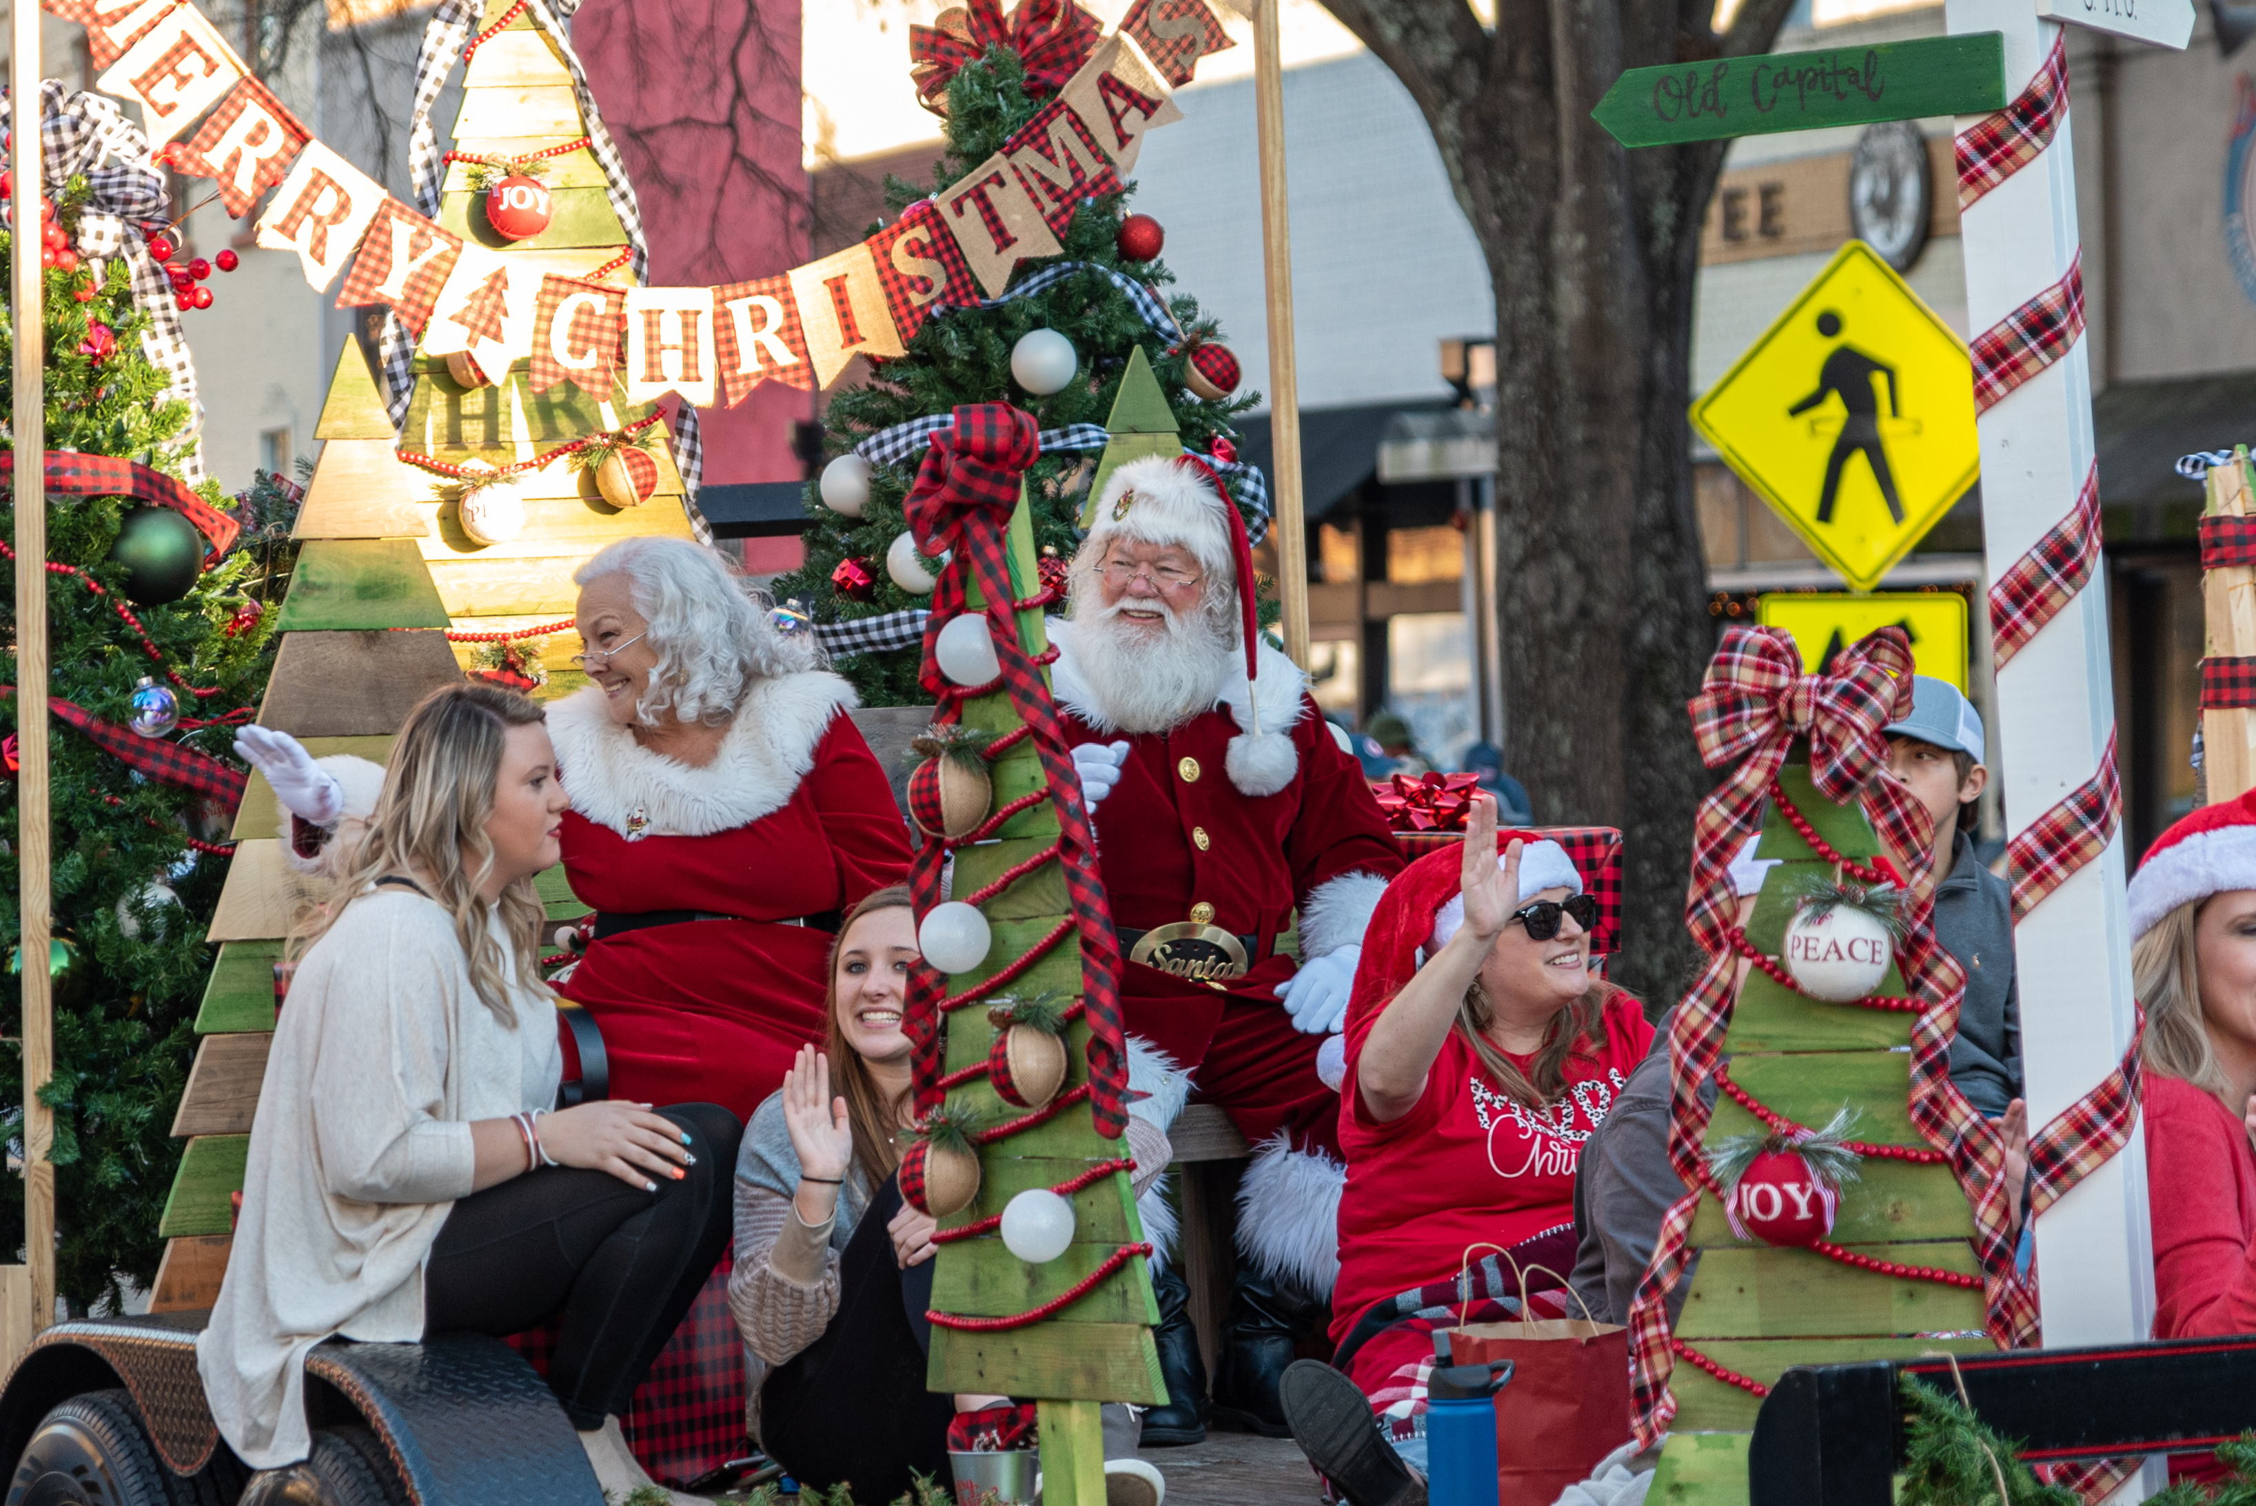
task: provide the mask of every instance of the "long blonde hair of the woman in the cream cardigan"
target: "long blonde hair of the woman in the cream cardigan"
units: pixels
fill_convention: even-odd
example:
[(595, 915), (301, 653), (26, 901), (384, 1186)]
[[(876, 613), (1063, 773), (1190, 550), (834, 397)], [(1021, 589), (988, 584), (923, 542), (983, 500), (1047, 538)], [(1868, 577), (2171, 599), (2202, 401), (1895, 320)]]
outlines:
[(289, 956), (298, 958), (318, 942), (377, 879), (415, 879), (417, 888), (435, 886), (435, 893), (426, 888), (426, 897), (453, 913), (453, 936), (469, 963), (478, 1003), (505, 1030), (514, 1030), (517, 1006), (490, 920), (499, 909), (517, 954), (519, 983), (546, 994), (539, 983), (544, 911), (530, 877), (514, 879), (496, 904), (485, 900), (481, 891), (494, 870), (494, 843), (485, 823), (494, 816), (510, 728), (539, 726), (544, 719), (539, 706), (499, 685), (444, 685), (417, 701), (393, 742), (384, 794), (377, 796), (368, 827), (341, 854), (345, 861), (327, 902), (300, 915)]

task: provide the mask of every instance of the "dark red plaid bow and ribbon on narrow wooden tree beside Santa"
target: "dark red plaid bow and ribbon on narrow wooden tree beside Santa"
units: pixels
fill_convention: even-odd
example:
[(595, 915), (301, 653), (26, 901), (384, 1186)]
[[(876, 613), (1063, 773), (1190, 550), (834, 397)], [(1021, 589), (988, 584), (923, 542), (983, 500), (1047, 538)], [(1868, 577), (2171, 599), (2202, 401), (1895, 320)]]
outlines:
[[(1038, 453), (1040, 435), (1033, 415), (1011, 404), (966, 404), (954, 410), (952, 428), (932, 435), (932, 449), (925, 451), (925, 464), (918, 467), (902, 512), (909, 519), (909, 532), (927, 555), (941, 550), (954, 555), (932, 591), (932, 618), (925, 636), (923, 683), (941, 699), (934, 721), (952, 724), (963, 715), (966, 694), (941, 674), (936, 647), (941, 627), (968, 606), (968, 582), (977, 582), (986, 602), (988, 631), (995, 638), (995, 658), (1002, 663), (997, 683), (1011, 697), (1011, 708), (1031, 728), (1031, 742), (1042, 758), (1051, 809), (1058, 816), (1056, 861), (1065, 877), (1072, 915), (1049, 940), (1036, 942), (1026, 956), (1063, 942), (1069, 933), (1078, 936), (1081, 994), (1090, 1021), (1090, 1105), (1096, 1134), (1119, 1139), (1128, 1127), (1128, 1051), (1121, 1037), (1121, 956), (1112, 933), (1112, 906), (1105, 902), (1105, 886), (1096, 872), (1096, 834), (1081, 805), (1081, 776), (1074, 773), (1074, 758), (1058, 728), (1058, 710), (1049, 699), (1042, 665), (1020, 643), (1011, 606), (1017, 600), (1017, 584), (1011, 579), (1006, 537), (1011, 514), (1017, 507), (1020, 478)], [(918, 915), (941, 902), (945, 859), (948, 843), (943, 841), (927, 841), (916, 850), (909, 891)], [(945, 981), (929, 965), (920, 963), (909, 974), (905, 1028), (916, 1044), (918, 1111), (941, 1100), (943, 994)]]

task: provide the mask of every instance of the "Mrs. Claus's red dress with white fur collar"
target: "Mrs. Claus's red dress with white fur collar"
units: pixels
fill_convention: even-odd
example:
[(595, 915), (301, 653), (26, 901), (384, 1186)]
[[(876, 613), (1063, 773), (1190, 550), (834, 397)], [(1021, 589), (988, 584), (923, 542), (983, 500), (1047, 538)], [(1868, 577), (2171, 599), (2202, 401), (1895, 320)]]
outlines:
[(582, 904), (632, 927), (591, 942), (559, 990), (602, 1028), (611, 1098), (749, 1120), (799, 1046), (821, 1042), (823, 927), (909, 870), (851, 706), (835, 674), (760, 681), (702, 769), (636, 744), (602, 690), (548, 708), (571, 796), (564, 872)]

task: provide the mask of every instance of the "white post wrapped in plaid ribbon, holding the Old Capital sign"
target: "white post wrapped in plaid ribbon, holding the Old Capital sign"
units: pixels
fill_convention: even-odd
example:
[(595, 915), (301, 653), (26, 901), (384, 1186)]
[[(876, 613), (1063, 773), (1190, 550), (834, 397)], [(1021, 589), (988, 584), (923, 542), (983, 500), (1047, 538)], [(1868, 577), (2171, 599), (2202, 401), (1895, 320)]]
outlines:
[[(2044, 65), (2060, 25), (2030, 0), (1947, 0), (1951, 34), (2006, 36), (2006, 92)], [(1960, 119), (1958, 129), (1976, 124)], [(2069, 119), (2035, 160), (1960, 219), (1967, 320), (1981, 334), (2076, 262), (2076, 158)], [(2066, 519), (2094, 462), (2091, 370), (2085, 340), (1981, 415), (1983, 546), (1999, 579)], [(2012, 748), (2006, 818), (2021, 832), (2091, 780), (2114, 735), (2105, 566), (1997, 674), (1997, 719)], [(2028, 1120), (2042, 1127), (2091, 1091), (2132, 1039), (2130, 918), (2123, 836), (2037, 904), (2015, 931)], [(2145, 1220), (2145, 1145), (2085, 1177), (2037, 1220), (2044, 1344), (2145, 1339), (2154, 1260)], [(2159, 1483), (2150, 1468), (2148, 1479)], [(2145, 1492), (2136, 1483), (2132, 1499)]]

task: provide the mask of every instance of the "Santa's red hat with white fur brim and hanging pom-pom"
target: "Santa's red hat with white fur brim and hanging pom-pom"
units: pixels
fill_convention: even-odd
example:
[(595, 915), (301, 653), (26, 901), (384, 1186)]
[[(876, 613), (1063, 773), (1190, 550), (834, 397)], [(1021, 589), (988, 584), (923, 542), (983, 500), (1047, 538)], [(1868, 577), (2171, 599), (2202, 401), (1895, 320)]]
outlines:
[(1202, 455), (1144, 455), (1121, 464), (1105, 478), (1096, 494), (1090, 537), (1083, 543), (1087, 557), (1099, 557), (1105, 539), (1137, 539), (1155, 546), (1178, 546), (1191, 550), (1207, 575), (1220, 575), (1236, 591), (1239, 645), (1245, 649), (1245, 697), (1250, 717), (1241, 719), (1254, 728), (1230, 739), (1230, 780), (1248, 794), (1275, 794), (1284, 789), (1299, 764), (1293, 739), (1286, 733), (1259, 730), (1272, 726), (1275, 712), (1284, 712), (1281, 726), (1297, 717), (1295, 708), (1272, 708), (1272, 721), (1261, 719), (1254, 701), (1254, 683), (1261, 679), (1261, 627), (1254, 618), (1254, 550), (1245, 534), (1245, 519), (1230, 500), (1230, 487)]

